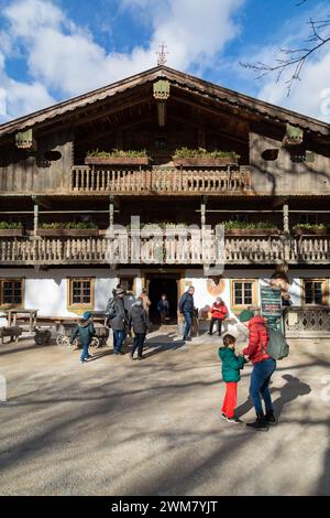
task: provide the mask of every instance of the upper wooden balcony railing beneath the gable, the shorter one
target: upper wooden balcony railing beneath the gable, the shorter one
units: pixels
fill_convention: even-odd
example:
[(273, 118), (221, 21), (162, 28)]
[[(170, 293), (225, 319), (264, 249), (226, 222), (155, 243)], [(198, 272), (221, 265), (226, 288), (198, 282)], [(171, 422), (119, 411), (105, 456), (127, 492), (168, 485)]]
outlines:
[[(108, 166), (109, 168), (109, 166)], [(252, 194), (249, 168), (189, 169), (72, 169), (73, 193), (84, 194), (170, 194), (170, 195), (246, 195)]]

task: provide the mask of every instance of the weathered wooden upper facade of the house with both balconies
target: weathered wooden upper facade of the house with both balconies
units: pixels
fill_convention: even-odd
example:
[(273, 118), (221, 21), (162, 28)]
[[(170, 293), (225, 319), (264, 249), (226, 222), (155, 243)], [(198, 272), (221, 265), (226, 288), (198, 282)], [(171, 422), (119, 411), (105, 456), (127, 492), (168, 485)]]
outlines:
[[(162, 99), (158, 82), (166, 84)], [(180, 148), (233, 151), (239, 159), (175, 160)], [(88, 159), (97, 149), (145, 149), (147, 158)], [(329, 201), (329, 125), (158, 66), (0, 126), (0, 222), (8, 224), (0, 227), (0, 277), (9, 269), (14, 279), (24, 268), (70, 268), (78, 282), (81, 268), (86, 278), (114, 268), (116, 248), (119, 278), (138, 285), (140, 276), (142, 287), (138, 266), (167, 276), (174, 268), (200, 272), (212, 262), (216, 226), (239, 220), (246, 229), (226, 234), (226, 268), (242, 268), (246, 279), (252, 269), (285, 267), (299, 278), (309, 268), (311, 277), (328, 279)], [(136, 262), (131, 216), (142, 225), (209, 225), (210, 233), (207, 240), (175, 229), (166, 238), (144, 233)], [(253, 229), (260, 222), (273, 230)], [(296, 230), (308, 222), (323, 230)], [(59, 228), (69, 223), (91, 228)], [(127, 231), (113, 234), (117, 224)], [(178, 285), (185, 288), (184, 274)]]

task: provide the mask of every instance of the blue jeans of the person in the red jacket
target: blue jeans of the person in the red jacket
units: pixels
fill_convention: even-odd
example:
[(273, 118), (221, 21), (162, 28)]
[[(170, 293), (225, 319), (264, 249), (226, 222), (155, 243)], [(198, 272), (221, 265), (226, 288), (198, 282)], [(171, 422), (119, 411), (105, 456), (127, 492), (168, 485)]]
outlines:
[(250, 396), (256, 414), (263, 413), (262, 399), (266, 407), (266, 412), (273, 412), (273, 403), (268, 389), (272, 375), (276, 368), (276, 361), (273, 358), (264, 359), (253, 366), (250, 384)]

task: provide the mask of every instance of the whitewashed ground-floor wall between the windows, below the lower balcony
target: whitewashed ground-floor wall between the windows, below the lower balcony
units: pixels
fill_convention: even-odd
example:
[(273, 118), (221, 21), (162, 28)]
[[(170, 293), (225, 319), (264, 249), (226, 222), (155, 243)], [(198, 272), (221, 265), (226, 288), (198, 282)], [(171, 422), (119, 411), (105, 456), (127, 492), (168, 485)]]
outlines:
[[(267, 282), (267, 279), (274, 272), (270, 269), (248, 270), (226, 270), (224, 282), (226, 289), (221, 294), (228, 309), (231, 306), (230, 280), (231, 279), (258, 279), (260, 284)], [(32, 269), (2, 269), (0, 277), (2, 278), (25, 278), (25, 309), (37, 309), (41, 316), (76, 316), (67, 310), (67, 288), (68, 277), (95, 277), (95, 310), (103, 311), (113, 288), (119, 282), (121, 276), (135, 276), (135, 294), (139, 295), (142, 290), (141, 270), (122, 269), (107, 270), (91, 268), (87, 269), (50, 269), (46, 271), (34, 271)], [(322, 278), (330, 279), (330, 269), (316, 270), (304, 269), (288, 271), (290, 280), (289, 294), (295, 305), (301, 304), (301, 279)], [(201, 310), (207, 305), (212, 305), (216, 298), (210, 295), (207, 290), (207, 279), (204, 277), (202, 269), (186, 270), (185, 289), (190, 284), (196, 288), (195, 302), (196, 306)]]

